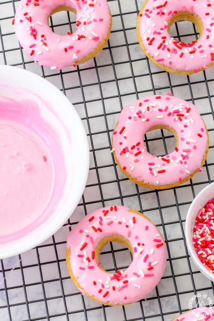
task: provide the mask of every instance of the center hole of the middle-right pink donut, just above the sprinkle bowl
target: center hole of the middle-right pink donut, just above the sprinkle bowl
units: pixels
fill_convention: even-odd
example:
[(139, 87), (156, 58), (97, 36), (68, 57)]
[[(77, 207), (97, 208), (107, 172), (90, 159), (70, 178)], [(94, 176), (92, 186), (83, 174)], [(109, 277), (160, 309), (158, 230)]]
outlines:
[(175, 129), (156, 125), (146, 132), (144, 142), (145, 146), (148, 143), (148, 152), (151, 155), (164, 156), (175, 151), (175, 147), (178, 147), (178, 136)]

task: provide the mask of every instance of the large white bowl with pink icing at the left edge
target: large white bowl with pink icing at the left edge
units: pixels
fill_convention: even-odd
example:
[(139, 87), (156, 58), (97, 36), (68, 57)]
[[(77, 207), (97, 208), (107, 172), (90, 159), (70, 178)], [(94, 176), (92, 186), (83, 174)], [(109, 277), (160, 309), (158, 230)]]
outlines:
[(0, 65), (0, 258), (53, 235), (83, 193), (89, 146), (76, 110), (54, 85)]

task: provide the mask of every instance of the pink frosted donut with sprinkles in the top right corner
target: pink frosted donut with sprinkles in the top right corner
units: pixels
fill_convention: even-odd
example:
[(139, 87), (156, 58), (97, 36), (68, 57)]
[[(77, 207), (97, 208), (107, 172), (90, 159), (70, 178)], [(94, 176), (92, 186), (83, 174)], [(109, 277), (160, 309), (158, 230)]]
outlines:
[[(197, 73), (214, 64), (213, 19), (212, 1), (147, 0), (137, 20), (138, 41), (145, 55), (166, 71)], [(170, 37), (173, 23), (182, 20), (196, 24), (198, 41), (185, 44)]]

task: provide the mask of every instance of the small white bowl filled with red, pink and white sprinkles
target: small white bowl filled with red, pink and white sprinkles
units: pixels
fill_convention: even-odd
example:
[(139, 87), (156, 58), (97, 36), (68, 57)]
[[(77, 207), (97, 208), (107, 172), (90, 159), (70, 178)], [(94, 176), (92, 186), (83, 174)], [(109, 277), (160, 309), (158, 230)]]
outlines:
[(214, 183), (193, 200), (186, 217), (185, 236), (197, 268), (214, 281)]

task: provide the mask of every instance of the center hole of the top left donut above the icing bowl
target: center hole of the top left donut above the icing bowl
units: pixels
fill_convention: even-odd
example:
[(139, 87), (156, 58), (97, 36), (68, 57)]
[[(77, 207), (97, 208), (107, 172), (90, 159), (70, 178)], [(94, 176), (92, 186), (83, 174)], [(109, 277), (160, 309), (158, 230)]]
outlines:
[(68, 32), (74, 33), (77, 30), (76, 10), (60, 5), (49, 14), (47, 22), (51, 30), (60, 36), (66, 36)]

